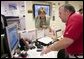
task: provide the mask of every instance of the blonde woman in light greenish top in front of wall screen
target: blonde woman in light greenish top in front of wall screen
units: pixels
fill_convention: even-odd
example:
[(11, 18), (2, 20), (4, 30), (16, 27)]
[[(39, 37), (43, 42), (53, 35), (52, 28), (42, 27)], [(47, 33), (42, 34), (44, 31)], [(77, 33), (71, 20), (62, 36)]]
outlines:
[(35, 17), (35, 27), (36, 28), (48, 28), (50, 25), (50, 17), (46, 15), (46, 11), (43, 7), (38, 10), (38, 16)]

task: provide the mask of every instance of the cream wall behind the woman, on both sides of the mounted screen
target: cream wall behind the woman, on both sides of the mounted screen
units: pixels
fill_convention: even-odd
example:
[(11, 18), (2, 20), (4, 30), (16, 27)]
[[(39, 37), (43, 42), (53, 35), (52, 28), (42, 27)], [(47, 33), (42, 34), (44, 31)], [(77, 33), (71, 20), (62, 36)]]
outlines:
[(43, 1), (27, 1), (26, 2), (26, 29), (28, 29), (28, 30), (31, 30), (31, 29), (35, 29), (35, 21), (34, 21), (34, 19), (33, 19), (33, 13), (28, 13), (28, 10), (32, 10), (33, 11), (33, 9), (32, 9), (32, 5), (33, 4), (49, 4), (49, 5), (51, 5), (51, 21), (50, 21), (50, 26), (54, 26), (54, 27), (56, 27), (56, 28), (63, 28), (64, 26), (64, 24), (61, 22), (61, 20), (60, 20), (60, 18), (59, 18), (59, 15), (58, 15), (58, 8), (59, 8), (59, 6), (58, 6), (58, 3), (60, 2), (60, 4), (64, 4), (64, 2), (62, 1), (55, 1), (55, 3), (56, 3), (56, 8), (55, 8), (55, 21), (53, 21), (52, 20), (52, 16), (53, 16), (53, 12), (52, 12), (52, 3), (51, 2), (43, 2)]

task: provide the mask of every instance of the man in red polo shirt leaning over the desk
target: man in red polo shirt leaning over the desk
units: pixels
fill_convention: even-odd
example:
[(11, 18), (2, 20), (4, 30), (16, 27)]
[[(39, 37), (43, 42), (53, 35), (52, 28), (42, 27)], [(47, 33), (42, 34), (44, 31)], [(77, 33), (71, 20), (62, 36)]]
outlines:
[(41, 54), (65, 49), (69, 58), (83, 58), (83, 16), (72, 5), (65, 4), (59, 8), (59, 17), (66, 23), (63, 38), (44, 48)]

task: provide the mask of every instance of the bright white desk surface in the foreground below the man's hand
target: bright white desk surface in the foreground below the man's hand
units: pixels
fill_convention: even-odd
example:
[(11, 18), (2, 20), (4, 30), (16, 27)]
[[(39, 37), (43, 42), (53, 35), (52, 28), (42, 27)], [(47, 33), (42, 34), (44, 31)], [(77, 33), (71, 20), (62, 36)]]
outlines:
[(37, 48), (27, 51), (28, 58), (57, 58), (58, 51), (51, 51), (47, 54), (40, 55), (41, 52), (37, 52)]

